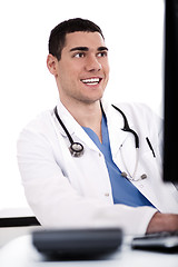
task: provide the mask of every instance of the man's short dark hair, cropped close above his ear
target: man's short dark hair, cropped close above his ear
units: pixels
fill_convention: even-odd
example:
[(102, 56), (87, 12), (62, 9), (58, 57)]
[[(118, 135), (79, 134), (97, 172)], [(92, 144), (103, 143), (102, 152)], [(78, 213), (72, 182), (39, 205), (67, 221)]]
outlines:
[[(99, 32), (103, 38), (101, 29), (90, 20), (86, 19), (69, 19), (59, 23), (51, 30), (49, 37), (48, 49), (49, 53), (56, 57), (58, 60), (61, 59), (61, 51), (66, 43), (66, 34), (76, 32), (76, 31), (85, 31), (85, 32)], [(105, 39), (105, 38), (103, 38)]]

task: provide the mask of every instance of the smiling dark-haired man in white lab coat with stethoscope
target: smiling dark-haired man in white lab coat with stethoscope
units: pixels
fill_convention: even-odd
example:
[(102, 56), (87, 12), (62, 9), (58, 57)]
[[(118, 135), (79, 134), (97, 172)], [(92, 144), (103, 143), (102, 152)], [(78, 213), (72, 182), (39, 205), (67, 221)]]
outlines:
[(145, 106), (102, 98), (109, 65), (100, 28), (82, 19), (58, 24), (47, 66), (60, 100), (18, 140), (27, 200), (41, 225), (178, 229), (178, 191), (161, 182), (159, 119)]

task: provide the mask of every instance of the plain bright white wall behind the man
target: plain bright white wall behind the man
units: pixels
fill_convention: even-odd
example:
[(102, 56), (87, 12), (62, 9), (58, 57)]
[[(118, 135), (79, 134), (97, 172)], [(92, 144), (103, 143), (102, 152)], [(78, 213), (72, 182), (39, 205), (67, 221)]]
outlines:
[(106, 96), (161, 105), (162, 0), (6, 0), (0, 2), (0, 209), (26, 206), (16, 158), (19, 131), (53, 108), (58, 92), (46, 68), (50, 30), (65, 19), (93, 20), (109, 47)]

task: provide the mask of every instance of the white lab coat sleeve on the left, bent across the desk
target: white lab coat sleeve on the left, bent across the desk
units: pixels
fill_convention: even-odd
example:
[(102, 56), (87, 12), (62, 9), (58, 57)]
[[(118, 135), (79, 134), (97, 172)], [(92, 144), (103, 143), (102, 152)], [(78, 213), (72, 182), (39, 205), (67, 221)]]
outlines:
[(144, 234), (156, 212), (150, 207), (106, 204), (81, 196), (56, 162), (52, 145), (38, 125), (27, 127), (18, 140), (18, 164), (27, 200), (46, 227), (121, 227)]

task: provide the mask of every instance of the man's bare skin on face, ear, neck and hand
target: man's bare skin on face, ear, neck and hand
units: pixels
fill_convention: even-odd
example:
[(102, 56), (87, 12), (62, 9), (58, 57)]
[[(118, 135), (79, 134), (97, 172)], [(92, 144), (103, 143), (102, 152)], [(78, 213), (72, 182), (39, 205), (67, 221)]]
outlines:
[[(109, 79), (108, 49), (99, 32), (73, 32), (58, 61), (48, 55), (47, 67), (55, 76), (60, 100), (79, 125), (91, 128), (101, 139), (100, 99)], [(83, 80), (97, 78), (98, 83)], [(178, 215), (156, 212), (147, 233), (178, 230)]]

